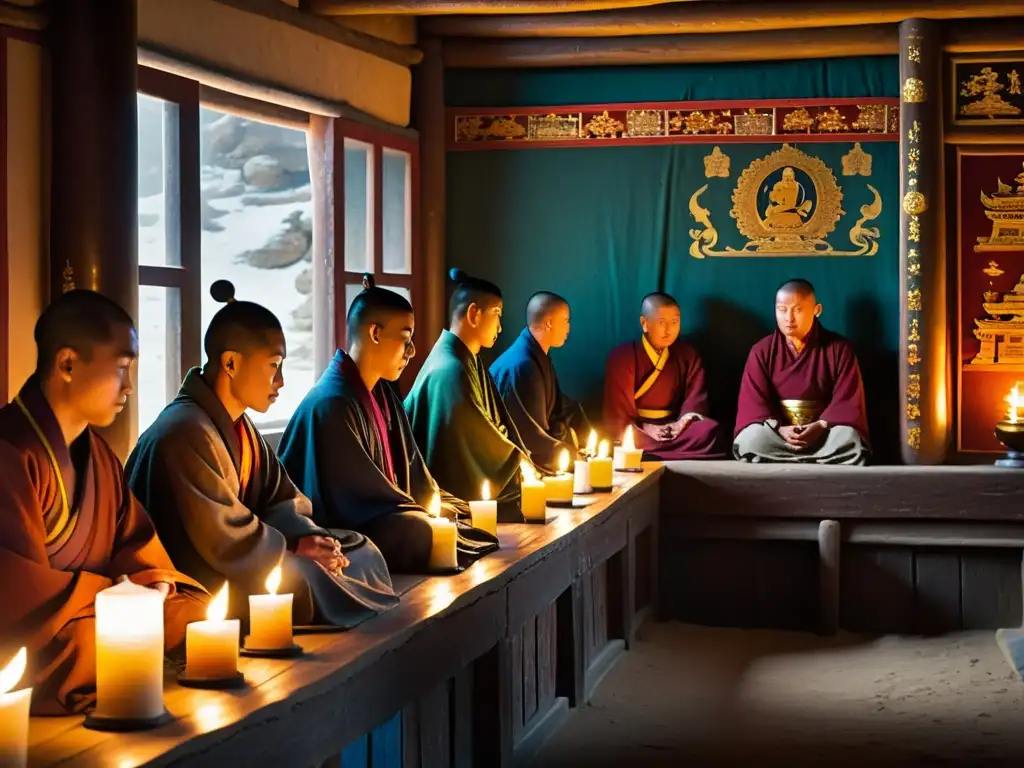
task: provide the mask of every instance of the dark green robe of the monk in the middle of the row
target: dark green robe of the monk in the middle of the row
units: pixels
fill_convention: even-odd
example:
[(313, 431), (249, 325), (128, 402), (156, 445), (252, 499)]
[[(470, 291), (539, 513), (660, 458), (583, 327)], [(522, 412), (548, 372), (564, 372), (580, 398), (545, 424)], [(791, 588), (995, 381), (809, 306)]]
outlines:
[(522, 521), (519, 463), (528, 455), (495, 380), (458, 336), (441, 332), (404, 404), (427, 468), (442, 488), (479, 499), (487, 480), (498, 519)]

